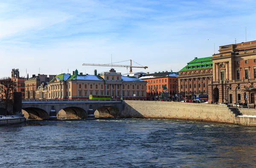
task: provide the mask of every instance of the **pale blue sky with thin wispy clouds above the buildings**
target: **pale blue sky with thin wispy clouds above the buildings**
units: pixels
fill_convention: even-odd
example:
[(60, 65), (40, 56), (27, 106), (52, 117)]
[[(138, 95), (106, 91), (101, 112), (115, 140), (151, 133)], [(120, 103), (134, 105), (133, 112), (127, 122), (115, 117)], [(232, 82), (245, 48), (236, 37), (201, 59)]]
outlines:
[(133, 72), (176, 72), (235, 39), (256, 40), (255, 8), (255, 0), (0, 0), (0, 77), (13, 68), (29, 77), (105, 72), (82, 64), (111, 58), (148, 66)]

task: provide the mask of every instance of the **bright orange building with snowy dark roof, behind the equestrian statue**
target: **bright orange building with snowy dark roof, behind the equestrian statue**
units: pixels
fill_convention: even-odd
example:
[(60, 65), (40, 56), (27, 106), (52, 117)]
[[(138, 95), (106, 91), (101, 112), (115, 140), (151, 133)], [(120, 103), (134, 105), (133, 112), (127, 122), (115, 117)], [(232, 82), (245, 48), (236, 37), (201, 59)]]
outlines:
[[(144, 81), (147, 81), (147, 98), (148, 100), (159, 100), (160, 94), (163, 91), (168, 91), (169, 96), (175, 101), (175, 94), (178, 92), (178, 73), (175, 72), (158, 72), (151, 73), (140, 77)], [(163, 90), (163, 86), (167, 90)], [(177, 99), (176, 99), (177, 100)]]

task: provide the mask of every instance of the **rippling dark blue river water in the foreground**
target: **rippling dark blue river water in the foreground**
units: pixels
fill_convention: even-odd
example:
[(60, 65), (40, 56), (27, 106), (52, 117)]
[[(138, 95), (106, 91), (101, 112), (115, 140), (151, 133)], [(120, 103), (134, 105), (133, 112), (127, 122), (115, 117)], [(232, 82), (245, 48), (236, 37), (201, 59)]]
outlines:
[(0, 127), (0, 167), (255, 167), (255, 135), (175, 120), (30, 121)]

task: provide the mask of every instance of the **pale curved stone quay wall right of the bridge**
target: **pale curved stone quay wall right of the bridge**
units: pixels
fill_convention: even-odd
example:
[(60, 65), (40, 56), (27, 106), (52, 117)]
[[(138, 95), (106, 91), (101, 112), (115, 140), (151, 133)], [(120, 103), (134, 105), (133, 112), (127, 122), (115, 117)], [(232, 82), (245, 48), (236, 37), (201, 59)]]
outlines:
[(237, 123), (235, 114), (227, 106), (164, 101), (125, 101), (121, 117), (198, 120)]

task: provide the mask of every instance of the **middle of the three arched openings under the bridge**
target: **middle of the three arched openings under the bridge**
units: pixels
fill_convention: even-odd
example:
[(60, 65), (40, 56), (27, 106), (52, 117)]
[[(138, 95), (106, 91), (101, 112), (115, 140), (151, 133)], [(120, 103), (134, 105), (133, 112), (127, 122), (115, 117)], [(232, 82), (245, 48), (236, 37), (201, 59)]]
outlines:
[(78, 118), (87, 118), (87, 113), (84, 109), (81, 109), (79, 107), (67, 107), (67, 108), (61, 109), (56, 116), (58, 120), (72, 119), (72, 118), (78, 119)]

